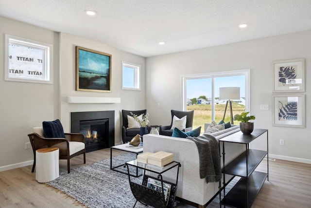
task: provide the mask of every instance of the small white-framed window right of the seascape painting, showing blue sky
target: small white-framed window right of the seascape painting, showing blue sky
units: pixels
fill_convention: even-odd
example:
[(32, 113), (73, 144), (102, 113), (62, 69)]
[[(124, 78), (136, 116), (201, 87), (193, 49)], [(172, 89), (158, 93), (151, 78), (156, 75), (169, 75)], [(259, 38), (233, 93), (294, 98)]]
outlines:
[(122, 89), (140, 90), (140, 66), (122, 61)]

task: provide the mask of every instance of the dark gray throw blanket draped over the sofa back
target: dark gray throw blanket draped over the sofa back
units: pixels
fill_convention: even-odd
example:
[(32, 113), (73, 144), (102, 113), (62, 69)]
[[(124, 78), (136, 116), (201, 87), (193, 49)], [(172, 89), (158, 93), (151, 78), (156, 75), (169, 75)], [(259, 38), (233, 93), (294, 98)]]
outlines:
[(203, 134), (198, 137), (188, 136), (187, 139), (194, 141), (198, 148), (200, 178), (206, 178), (207, 183), (220, 181), (222, 170), (218, 140), (210, 134)]

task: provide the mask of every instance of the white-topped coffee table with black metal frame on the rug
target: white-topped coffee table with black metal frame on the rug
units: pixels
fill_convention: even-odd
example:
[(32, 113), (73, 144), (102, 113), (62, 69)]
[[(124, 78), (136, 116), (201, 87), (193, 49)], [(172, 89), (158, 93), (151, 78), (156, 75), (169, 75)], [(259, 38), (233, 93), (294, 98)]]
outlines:
[[(136, 154), (136, 158), (137, 158), (137, 155), (139, 153), (143, 152), (142, 146), (134, 147), (134, 146), (129, 145), (129, 143), (125, 143), (125, 144), (121, 144), (121, 145), (116, 145), (116, 146), (113, 146), (113, 147), (110, 148), (110, 170), (114, 170), (114, 171), (125, 173), (125, 174), (128, 174), (128, 172), (127, 171), (121, 171), (118, 168), (121, 167), (121, 166), (124, 166), (125, 162), (128, 162), (128, 161), (124, 161), (123, 164), (116, 165), (116, 166), (113, 167), (112, 166), (112, 150), (119, 150), (119, 151), (126, 151), (126, 152), (135, 153)], [(129, 159), (129, 160), (132, 160), (132, 159)], [(138, 168), (136, 168), (136, 174), (135, 175), (130, 174), (130, 175), (134, 176), (134, 177), (139, 177), (142, 174), (138, 174)]]

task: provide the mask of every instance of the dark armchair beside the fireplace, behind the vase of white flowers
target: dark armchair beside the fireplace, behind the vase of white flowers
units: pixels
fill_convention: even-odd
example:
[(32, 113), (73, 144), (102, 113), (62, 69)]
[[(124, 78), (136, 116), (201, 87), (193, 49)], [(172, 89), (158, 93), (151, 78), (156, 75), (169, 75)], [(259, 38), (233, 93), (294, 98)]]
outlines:
[[(146, 114), (147, 110), (140, 110), (140, 111), (127, 111), (127, 110), (122, 110), (122, 119), (123, 119), (123, 125), (122, 125), (122, 141), (123, 144), (130, 142), (136, 134), (140, 134), (140, 129), (139, 128), (134, 128), (134, 129), (127, 129), (128, 128), (128, 121), (127, 121), (127, 115), (132, 116), (130, 114), (132, 112), (133, 114), (140, 115), (140, 114)], [(147, 131), (151, 131), (151, 126), (147, 125)]]

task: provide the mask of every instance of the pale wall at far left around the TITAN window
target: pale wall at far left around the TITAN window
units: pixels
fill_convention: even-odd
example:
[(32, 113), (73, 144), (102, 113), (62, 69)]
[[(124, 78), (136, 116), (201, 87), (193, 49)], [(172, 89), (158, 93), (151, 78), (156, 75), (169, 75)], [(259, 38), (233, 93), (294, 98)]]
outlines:
[[(4, 34), (53, 45), (53, 84), (4, 81)], [(58, 115), (58, 41), (58, 33), (0, 17), (0, 167), (33, 160), (27, 134)]]

